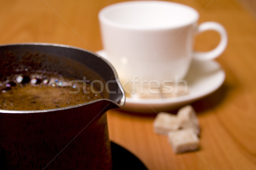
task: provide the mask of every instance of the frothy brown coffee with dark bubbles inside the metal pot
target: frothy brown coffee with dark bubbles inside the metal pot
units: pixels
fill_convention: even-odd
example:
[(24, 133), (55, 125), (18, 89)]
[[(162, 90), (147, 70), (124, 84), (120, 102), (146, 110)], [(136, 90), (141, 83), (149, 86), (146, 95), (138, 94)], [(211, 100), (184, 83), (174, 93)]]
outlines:
[(102, 98), (94, 88), (61, 75), (15, 74), (0, 81), (0, 109), (45, 110), (78, 105)]

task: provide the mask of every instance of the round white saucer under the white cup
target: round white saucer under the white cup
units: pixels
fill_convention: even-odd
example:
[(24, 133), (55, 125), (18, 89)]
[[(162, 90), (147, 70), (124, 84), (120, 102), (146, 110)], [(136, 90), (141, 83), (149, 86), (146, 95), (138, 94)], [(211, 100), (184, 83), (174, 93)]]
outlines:
[[(105, 51), (98, 51), (97, 54), (107, 58)], [(194, 102), (217, 90), (225, 80), (225, 72), (214, 60), (199, 62), (192, 61), (189, 73), (185, 77), (188, 83), (189, 94), (163, 99), (140, 99), (126, 97), (126, 111), (137, 113), (152, 113), (168, 111), (180, 106)]]

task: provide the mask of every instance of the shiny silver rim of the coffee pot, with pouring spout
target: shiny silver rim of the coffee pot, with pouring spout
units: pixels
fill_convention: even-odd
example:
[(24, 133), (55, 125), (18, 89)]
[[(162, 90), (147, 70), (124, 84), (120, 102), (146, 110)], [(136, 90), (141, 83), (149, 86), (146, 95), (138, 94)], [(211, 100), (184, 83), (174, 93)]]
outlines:
[(117, 105), (118, 107), (123, 107), (125, 105), (125, 92), (124, 92), (124, 89), (122, 88), (121, 82), (120, 82), (120, 80), (118, 78), (116, 69), (113, 67), (113, 65), (107, 59), (101, 57), (96, 52), (92, 52), (92, 51), (89, 51), (89, 50), (86, 50), (86, 49), (83, 49), (83, 48), (79, 48), (79, 47), (75, 47), (75, 46), (72, 46), (72, 45), (64, 45), (64, 44), (57, 44), (57, 43), (47, 43), (47, 42), (8, 43), (8, 44), (1, 44), (0, 47), (3, 47), (3, 46), (14, 46), (14, 45), (57, 46), (57, 47), (63, 47), (63, 48), (73, 48), (73, 49), (76, 49), (76, 50), (85, 51), (87, 53), (93, 54), (95, 57), (99, 57), (100, 59), (105, 61), (106, 64), (109, 65), (110, 68), (112, 69), (114, 77), (116, 79), (116, 83), (117, 83), (117, 85), (119, 86), (119, 88), (120, 88), (120, 90), (122, 92), (122, 99), (120, 100), (119, 103), (117, 103), (117, 102), (115, 102), (113, 100), (110, 100), (110, 99), (96, 99), (96, 100), (93, 100), (93, 101), (90, 101), (90, 102), (85, 102), (85, 103), (82, 103), (82, 104), (79, 104), (79, 105), (73, 105), (73, 106), (68, 106), (68, 107), (64, 107), (64, 108), (54, 108), (54, 109), (35, 110), (35, 111), (15, 111), (15, 110), (2, 110), (2, 109), (0, 109), (0, 113), (42, 113), (42, 112), (45, 113), (45, 112), (52, 112), (52, 111), (61, 111), (61, 110), (67, 110), (67, 109), (71, 109), (71, 108), (78, 108), (78, 107), (81, 107), (81, 106), (84, 106), (84, 105), (89, 105), (89, 104), (92, 104), (92, 103), (95, 103), (95, 102), (99, 102), (99, 101), (102, 101), (102, 100), (112, 102), (115, 105)]

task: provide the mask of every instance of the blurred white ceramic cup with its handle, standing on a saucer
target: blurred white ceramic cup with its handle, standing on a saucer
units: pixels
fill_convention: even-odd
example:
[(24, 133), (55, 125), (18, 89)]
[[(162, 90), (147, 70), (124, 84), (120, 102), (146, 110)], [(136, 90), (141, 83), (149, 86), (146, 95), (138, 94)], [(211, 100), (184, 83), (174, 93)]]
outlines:
[[(189, 6), (166, 1), (128, 1), (99, 12), (103, 49), (120, 79), (183, 79), (192, 59), (209, 60), (226, 48), (227, 33), (215, 22), (198, 22)], [(193, 51), (195, 34), (214, 30), (221, 40), (212, 51)], [(175, 78), (176, 77), (176, 78)]]

